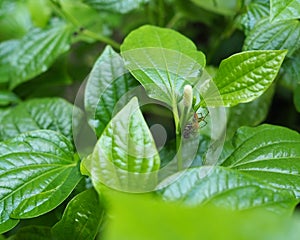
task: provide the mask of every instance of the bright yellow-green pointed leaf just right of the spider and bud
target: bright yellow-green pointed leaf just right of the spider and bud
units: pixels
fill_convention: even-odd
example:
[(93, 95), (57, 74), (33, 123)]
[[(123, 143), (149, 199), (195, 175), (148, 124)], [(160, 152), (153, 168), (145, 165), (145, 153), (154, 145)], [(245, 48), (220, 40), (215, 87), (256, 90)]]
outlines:
[(211, 106), (234, 106), (258, 98), (272, 84), (285, 55), (283, 50), (247, 51), (223, 60), (213, 79), (219, 92), (207, 94), (205, 101)]

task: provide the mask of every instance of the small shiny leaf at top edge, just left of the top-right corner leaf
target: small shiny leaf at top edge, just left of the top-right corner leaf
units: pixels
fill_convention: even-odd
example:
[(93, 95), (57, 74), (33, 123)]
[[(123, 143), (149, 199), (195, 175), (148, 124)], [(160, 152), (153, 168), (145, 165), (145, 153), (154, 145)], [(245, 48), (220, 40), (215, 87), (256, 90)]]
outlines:
[(243, 26), (246, 35), (248, 35), (257, 22), (269, 16), (269, 12), (269, 0), (254, 0), (246, 6), (246, 13), (241, 14), (237, 21)]

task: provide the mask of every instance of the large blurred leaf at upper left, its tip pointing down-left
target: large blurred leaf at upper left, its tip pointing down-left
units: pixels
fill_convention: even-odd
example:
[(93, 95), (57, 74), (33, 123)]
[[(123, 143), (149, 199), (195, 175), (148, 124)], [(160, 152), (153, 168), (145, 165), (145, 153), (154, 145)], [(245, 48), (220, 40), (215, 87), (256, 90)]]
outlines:
[(53, 25), (46, 30), (32, 29), (11, 53), (11, 89), (45, 72), (58, 56), (69, 49), (72, 33), (70, 26), (60, 22)]

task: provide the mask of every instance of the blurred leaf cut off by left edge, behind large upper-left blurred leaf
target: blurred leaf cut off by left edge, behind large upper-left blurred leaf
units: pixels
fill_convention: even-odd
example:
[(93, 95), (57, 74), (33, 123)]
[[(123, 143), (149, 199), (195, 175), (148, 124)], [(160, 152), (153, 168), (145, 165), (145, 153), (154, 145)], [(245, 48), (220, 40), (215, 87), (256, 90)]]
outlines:
[(0, 83), (8, 82), (11, 74), (9, 58), (11, 52), (19, 46), (19, 40), (9, 40), (0, 43)]

